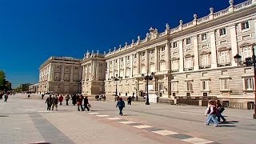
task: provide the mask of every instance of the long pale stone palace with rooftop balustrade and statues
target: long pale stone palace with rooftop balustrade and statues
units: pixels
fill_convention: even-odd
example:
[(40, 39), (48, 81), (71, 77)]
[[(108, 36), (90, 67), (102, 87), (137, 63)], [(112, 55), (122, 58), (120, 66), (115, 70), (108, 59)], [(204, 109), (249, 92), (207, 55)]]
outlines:
[[(82, 80), (82, 94), (87, 95), (115, 95), (118, 91), (121, 96), (142, 96), (149, 89), (162, 98), (213, 96), (253, 102), (251, 58), (255, 43), (256, 0), (238, 5), (230, 0), (225, 10), (214, 12), (210, 8), (205, 17), (194, 14), (193, 21), (180, 20), (176, 27), (166, 24), (162, 32), (151, 27), (146, 38), (138, 36), (108, 53), (87, 52), (81, 61), (64, 61), (70, 62), (68, 69), (62, 67), (63, 60), (56, 60), (59, 65), (52, 62), (54, 59), (48, 60), (40, 69), (40, 87), (56, 90), (62, 83), (62, 92), (67, 92), (65, 85), (74, 92), (77, 87), (73, 86), (78, 86), (75, 82)], [(242, 62), (235, 62), (236, 54), (242, 56)], [(71, 66), (78, 70), (71, 70)], [(147, 85), (142, 74), (152, 73), (153, 79)], [(52, 77), (55, 74), (58, 78)]]

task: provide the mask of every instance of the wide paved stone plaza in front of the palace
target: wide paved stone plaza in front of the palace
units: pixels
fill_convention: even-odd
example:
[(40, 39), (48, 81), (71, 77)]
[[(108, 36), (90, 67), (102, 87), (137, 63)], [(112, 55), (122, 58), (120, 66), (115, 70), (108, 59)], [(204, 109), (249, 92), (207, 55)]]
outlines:
[[(226, 109), (228, 122), (206, 126), (206, 107), (132, 102), (118, 115), (116, 102), (90, 101), (92, 108), (46, 110), (37, 95), (0, 101), (0, 143), (256, 143), (253, 110)], [(70, 102), (71, 103), (71, 102)]]

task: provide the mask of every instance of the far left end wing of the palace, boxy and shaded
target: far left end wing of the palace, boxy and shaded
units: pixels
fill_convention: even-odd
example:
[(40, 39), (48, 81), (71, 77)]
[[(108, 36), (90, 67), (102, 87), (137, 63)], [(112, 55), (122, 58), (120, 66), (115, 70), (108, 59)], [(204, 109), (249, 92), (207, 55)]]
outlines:
[(81, 60), (70, 57), (50, 57), (39, 68), (39, 93), (81, 93)]

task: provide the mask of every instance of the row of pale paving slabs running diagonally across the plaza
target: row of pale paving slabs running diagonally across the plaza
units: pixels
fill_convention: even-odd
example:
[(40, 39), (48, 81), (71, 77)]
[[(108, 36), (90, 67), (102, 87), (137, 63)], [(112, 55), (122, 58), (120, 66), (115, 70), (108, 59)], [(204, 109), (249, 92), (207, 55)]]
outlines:
[[(138, 129), (154, 128), (153, 126), (138, 124), (138, 122), (127, 121), (125, 119), (117, 118), (117, 117), (111, 117), (110, 115), (106, 115), (106, 114), (100, 114), (100, 113), (89, 113), (89, 114), (96, 114), (96, 116), (106, 118), (108, 120), (123, 120), (123, 121), (119, 121), (119, 123), (130, 125), (130, 126), (138, 128)], [(133, 125), (133, 124), (138, 124), (138, 125)], [(192, 137), (192, 136), (189, 136), (189, 135), (186, 135), (186, 134), (179, 134), (177, 132), (170, 131), (170, 130), (150, 130), (150, 132), (152, 132), (154, 134), (160, 134), (162, 136), (169, 136), (171, 138), (178, 138), (183, 142), (188, 142), (188, 143), (193, 143), (193, 144), (216, 143), (216, 142), (209, 141), (209, 140), (206, 140), (206, 139), (203, 139), (203, 138), (196, 138), (196, 137)]]

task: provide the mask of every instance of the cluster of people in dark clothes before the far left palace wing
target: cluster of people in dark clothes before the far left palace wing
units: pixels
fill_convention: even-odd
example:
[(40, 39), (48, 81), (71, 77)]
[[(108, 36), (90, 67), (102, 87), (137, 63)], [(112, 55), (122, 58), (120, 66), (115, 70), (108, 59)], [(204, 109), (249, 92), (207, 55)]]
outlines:
[[(42, 96), (43, 98), (43, 96)], [(72, 104), (75, 106), (76, 104), (78, 105), (78, 111), (80, 111), (80, 107), (81, 107), (81, 110), (84, 111), (85, 109), (86, 110), (90, 110), (90, 103), (89, 103), (89, 100), (88, 100), (88, 97), (83, 97), (82, 94), (66, 94), (66, 106), (69, 105), (69, 100), (70, 98), (72, 99)], [(55, 94), (53, 97), (52, 95), (50, 95), (48, 98), (46, 98), (46, 104), (47, 104), (47, 110), (54, 110), (54, 107), (55, 107), (55, 110), (58, 110), (58, 102), (59, 102), (59, 105), (62, 105), (62, 102), (63, 102), (63, 99), (64, 99), (64, 95), (60, 94), (58, 96), (58, 94)], [(82, 105), (82, 102), (83, 102), (83, 105)]]

